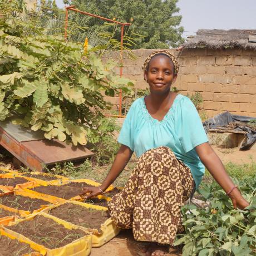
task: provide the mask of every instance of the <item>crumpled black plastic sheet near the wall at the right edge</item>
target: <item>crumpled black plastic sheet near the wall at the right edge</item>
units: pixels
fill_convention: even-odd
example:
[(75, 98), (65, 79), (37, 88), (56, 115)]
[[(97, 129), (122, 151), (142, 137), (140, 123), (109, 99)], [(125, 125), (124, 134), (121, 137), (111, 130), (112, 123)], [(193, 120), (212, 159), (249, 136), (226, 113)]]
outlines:
[(224, 112), (206, 120), (205, 122), (203, 122), (203, 125), (204, 130), (207, 133), (209, 129), (228, 130), (229, 128), (227, 126), (229, 124), (232, 124), (236, 121), (243, 122), (244, 125), (237, 125), (233, 130), (247, 132), (247, 134), (245, 134), (247, 140), (245, 140), (243, 144), (240, 146), (240, 150), (248, 150), (256, 141), (256, 126), (255, 129), (252, 129), (251, 127), (248, 127), (246, 125), (251, 120), (256, 120), (256, 118), (249, 116), (232, 115), (230, 114), (230, 112)]

